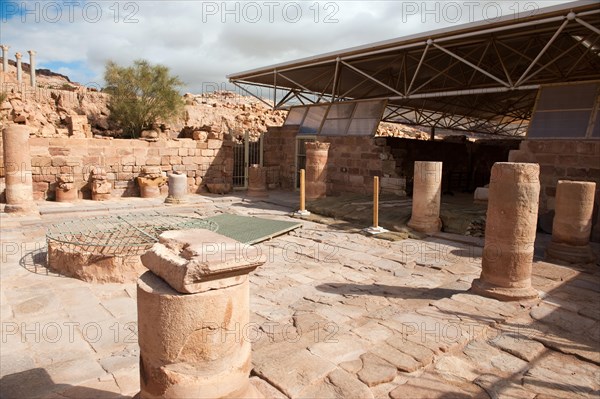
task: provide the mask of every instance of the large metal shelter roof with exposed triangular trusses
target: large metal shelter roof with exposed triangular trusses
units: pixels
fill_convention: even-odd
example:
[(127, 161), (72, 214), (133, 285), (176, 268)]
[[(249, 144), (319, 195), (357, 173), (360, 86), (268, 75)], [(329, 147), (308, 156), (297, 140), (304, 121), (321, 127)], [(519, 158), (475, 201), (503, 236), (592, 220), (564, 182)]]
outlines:
[[(576, 1), (228, 75), (276, 108), (387, 99), (382, 120), (522, 135), (541, 85), (600, 79), (600, 7)], [(282, 96), (282, 90), (285, 94)], [(279, 93), (279, 94), (278, 94)], [(271, 105), (271, 104), (269, 104)]]

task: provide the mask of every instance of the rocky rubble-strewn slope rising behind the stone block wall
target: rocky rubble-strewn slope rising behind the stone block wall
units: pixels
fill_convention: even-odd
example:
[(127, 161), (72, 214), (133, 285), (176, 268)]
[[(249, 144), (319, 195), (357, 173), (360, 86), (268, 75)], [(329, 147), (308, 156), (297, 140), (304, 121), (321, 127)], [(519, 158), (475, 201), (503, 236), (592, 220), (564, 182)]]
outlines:
[[(29, 66), (24, 64), (23, 69), (23, 79), (29, 83)], [(68, 77), (51, 71), (37, 75), (35, 90), (28, 87), (20, 92), (16, 84), (16, 67), (12, 63), (8, 74), (3, 75), (7, 99), (0, 104), (0, 121), (27, 124), (32, 128), (32, 134), (39, 137), (61, 137), (70, 134), (68, 127), (72, 116), (85, 115), (91, 125), (90, 134), (118, 136), (118, 127), (111, 126), (108, 120), (107, 94), (73, 83)], [(286, 111), (272, 110), (256, 98), (228, 91), (188, 93), (183, 100), (185, 109), (179, 118), (157, 124), (145, 135), (169, 139), (214, 132), (242, 138), (249, 132), (255, 139), (269, 126), (282, 125), (287, 114)], [(391, 123), (381, 123), (377, 134), (428, 138), (421, 130)]]

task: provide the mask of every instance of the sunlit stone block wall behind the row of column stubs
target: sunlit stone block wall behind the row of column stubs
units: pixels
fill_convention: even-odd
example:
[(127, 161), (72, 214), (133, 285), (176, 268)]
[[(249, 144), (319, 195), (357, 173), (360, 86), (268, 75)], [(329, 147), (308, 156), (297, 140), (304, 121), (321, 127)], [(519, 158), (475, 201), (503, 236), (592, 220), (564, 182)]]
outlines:
[(54, 199), (56, 175), (60, 173), (73, 174), (81, 196), (90, 198), (88, 179), (94, 166), (106, 168), (113, 197), (139, 196), (135, 178), (144, 166), (186, 172), (191, 193), (204, 190), (206, 183), (232, 182), (233, 147), (228, 140), (32, 137), (30, 146), (36, 200)]

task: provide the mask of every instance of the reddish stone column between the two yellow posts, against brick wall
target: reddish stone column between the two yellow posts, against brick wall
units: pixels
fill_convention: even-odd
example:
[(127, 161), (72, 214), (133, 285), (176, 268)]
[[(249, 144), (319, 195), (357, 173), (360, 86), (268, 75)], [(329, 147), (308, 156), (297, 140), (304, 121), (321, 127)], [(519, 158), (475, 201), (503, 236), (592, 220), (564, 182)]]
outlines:
[(327, 158), (329, 144), (306, 143), (306, 198), (323, 198), (327, 194)]

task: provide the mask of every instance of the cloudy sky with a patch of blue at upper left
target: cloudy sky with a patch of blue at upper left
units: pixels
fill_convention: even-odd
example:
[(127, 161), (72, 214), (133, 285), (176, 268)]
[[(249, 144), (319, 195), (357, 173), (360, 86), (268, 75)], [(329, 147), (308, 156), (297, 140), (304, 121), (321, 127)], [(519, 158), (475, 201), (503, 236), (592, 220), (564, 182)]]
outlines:
[(107, 60), (141, 58), (200, 93), (235, 72), (566, 2), (0, 0), (0, 42), (82, 84), (102, 86)]

